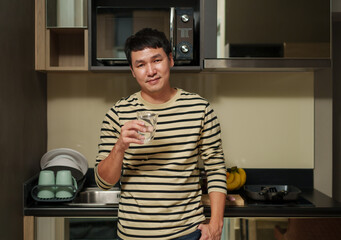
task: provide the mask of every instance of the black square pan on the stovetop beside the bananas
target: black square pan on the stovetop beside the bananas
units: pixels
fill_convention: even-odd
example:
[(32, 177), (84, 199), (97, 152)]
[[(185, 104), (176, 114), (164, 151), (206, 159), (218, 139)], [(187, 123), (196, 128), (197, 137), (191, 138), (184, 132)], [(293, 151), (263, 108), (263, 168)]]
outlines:
[(291, 185), (245, 185), (244, 190), (249, 198), (261, 201), (293, 201), (301, 193)]

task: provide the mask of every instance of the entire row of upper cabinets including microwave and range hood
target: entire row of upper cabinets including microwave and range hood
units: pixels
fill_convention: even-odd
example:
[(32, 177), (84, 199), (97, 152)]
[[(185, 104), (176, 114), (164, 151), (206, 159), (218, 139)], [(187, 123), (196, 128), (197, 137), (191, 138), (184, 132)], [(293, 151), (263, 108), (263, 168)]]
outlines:
[(328, 0), (35, 0), (36, 70), (129, 70), (125, 39), (170, 39), (173, 70), (331, 66)]

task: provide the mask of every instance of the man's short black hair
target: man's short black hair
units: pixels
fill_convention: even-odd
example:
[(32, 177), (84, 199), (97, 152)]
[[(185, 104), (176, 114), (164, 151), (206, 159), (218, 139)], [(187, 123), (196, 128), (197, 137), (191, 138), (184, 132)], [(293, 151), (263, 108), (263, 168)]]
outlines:
[(156, 29), (143, 28), (127, 38), (124, 46), (128, 63), (131, 63), (131, 52), (141, 51), (145, 48), (163, 48), (167, 56), (172, 52), (170, 43), (163, 32)]

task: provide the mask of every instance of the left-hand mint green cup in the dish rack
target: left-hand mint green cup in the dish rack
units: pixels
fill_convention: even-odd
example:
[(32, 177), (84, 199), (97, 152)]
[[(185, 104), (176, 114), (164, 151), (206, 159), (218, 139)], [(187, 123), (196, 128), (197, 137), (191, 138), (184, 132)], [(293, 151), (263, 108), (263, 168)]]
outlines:
[(55, 178), (54, 172), (50, 170), (43, 170), (39, 173), (38, 179), (38, 198), (54, 198), (55, 196)]

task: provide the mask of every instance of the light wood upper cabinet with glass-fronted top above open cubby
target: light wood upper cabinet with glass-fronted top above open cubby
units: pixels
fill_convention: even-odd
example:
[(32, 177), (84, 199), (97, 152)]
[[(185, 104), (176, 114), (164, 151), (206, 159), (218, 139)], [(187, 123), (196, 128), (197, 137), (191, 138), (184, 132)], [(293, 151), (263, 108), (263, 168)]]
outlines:
[(87, 0), (35, 0), (35, 69), (88, 70)]

